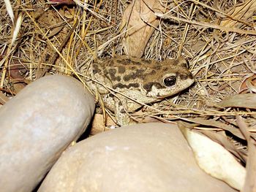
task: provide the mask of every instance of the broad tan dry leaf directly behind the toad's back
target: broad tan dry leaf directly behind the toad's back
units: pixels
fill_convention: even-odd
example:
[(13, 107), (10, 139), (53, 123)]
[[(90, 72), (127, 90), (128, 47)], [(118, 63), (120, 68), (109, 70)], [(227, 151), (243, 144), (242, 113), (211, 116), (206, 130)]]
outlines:
[(149, 38), (159, 25), (154, 11), (165, 12), (159, 0), (134, 0), (125, 9), (121, 27), (127, 26), (124, 30), (128, 30), (123, 42), (126, 55), (138, 58), (143, 55)]

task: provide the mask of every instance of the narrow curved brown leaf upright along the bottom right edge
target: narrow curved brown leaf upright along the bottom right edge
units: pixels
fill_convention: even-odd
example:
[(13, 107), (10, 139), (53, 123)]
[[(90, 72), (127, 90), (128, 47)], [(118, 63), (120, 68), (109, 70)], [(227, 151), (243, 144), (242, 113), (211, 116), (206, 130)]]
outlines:
[(243, 119), (236, 115), (236, 120), (238, 123), (241, 132), (246, 137), (248, 143), (248, 160), (246, 164), (246, 180), (244, 183), (244, 187), (242, 188), (242, 192), (255, 192), (256, 191), (256, 146), (255, 140), (252, 139), (250, 133), (248, 131), (248, 127), (246, 123), (244, 123)]

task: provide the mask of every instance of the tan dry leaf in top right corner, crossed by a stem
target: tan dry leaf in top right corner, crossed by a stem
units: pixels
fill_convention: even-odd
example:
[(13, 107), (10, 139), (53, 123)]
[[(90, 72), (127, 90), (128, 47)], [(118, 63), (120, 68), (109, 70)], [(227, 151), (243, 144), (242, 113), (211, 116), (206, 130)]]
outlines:
[(247, 0), (243, 4), (238, 4), (236, 7), (230, 10), (228, 15), (236, 20), (232, 20), (231, 18), (227, 18), (222, 20), (219, 25), (227, 26), (227, 27), (236, 27), (240, 28), (244, 23), (239, 23), (237, 20), (247, 20), (251, 18), (253, 13), (256, 11), (256, 1)]

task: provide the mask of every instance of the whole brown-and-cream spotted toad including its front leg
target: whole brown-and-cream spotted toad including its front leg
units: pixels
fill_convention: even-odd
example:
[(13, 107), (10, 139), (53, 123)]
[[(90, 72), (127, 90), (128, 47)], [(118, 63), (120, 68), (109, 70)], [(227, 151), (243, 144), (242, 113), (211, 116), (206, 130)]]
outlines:
[[(184, 58), (158, 62), (121, 55), (92, 64), (89, 73), (92, 79), (102, 84), (89, 80), (89, 88), (102, 95), (105, 107), (115, 112), (119, 125), (129, 124), (124, 113), (133, 112), (141, 107), (135, 101), (144, 104), (161, 101), (183, 91), (195, 81), (187, 69), (187, 61)], [(110, 96), (110, 90), (104, 85), (118, 91), (115, 93), (116, 96)], [(123, 110), (120, 110), (121, 108)]]

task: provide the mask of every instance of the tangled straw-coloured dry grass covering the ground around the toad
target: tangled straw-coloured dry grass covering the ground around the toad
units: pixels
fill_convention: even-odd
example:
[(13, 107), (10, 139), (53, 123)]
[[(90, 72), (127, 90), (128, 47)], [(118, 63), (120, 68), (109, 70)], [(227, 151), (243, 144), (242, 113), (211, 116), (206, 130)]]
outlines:
[[(96, 59), (124, 54), (119, 25), (129, 1), (89, 1), (53, 7), (45, 1), (12, 1), (14, 23), (0, 0), (1, 91), (15, 95), (45, 73), (67, 74), (84, 82), (86, 67)], [(174, 101), (162, 101), (143, 113), (163, 121), (206, 118), (236, 127), (235, 115), (254, 126), (254, 110), (221, 109), (217, 102), (237, 93), (254, 92), (255, 3), (247, 1), (173, 1), (151, 37), (144, 57), (162, 60), (183, 55), (197, 82)], [(82, 7), (81, 7), (82, 6)], [(18, 37), (15, 28), (22, 18)], [(75, 26), (75, 27), (73, 27)], [(63, 43), (64, 42), (64, 43)]]

